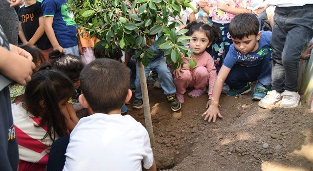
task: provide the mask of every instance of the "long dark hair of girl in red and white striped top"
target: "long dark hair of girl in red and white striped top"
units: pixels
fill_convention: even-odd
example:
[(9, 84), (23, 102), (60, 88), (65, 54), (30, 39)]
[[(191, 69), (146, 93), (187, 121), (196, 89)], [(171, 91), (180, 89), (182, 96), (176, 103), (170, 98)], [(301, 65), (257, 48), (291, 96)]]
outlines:
[(23, 97), (25, 107), (35, 117), (42, 118), (36, 127), (46, 125), (47, 133), (43, 139), (49, 136), (54, 141), (56, 136), (68, 134), (59, 102), (70, 99), (74, 94), (72, 82), (56, 70), (39, 71), (27, 83)]

